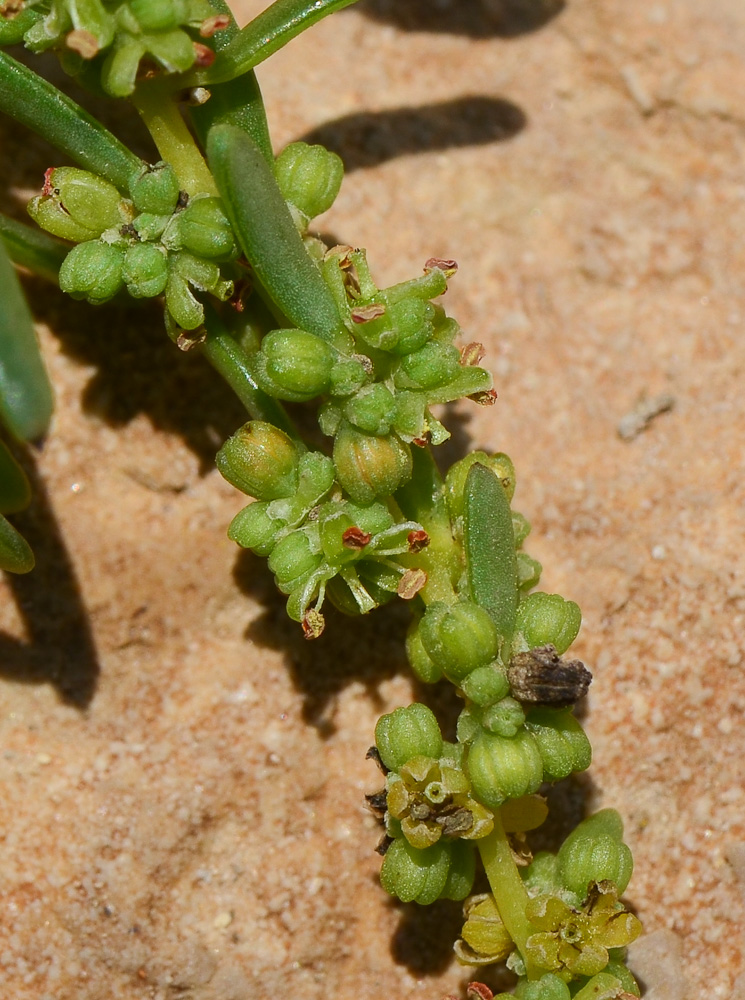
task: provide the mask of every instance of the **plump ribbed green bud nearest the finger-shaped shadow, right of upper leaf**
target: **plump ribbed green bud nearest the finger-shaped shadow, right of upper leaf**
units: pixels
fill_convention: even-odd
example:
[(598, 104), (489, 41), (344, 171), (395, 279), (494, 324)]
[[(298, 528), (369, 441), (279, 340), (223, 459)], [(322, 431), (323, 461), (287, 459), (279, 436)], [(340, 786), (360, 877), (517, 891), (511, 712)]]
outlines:
[(344, 177), (344, 164), (323, 146), (293, 142), (277, 157), (274, 171), (283, 198), (305, 216), (307, 223), (334, 203)]

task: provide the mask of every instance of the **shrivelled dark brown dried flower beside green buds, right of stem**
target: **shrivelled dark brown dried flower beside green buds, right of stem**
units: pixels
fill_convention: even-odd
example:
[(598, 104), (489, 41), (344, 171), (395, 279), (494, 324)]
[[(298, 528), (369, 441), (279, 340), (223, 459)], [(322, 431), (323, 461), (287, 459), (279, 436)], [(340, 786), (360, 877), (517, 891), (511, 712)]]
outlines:
[(512, 696), (532, 705), (564, 708), (587, 694), (592, 674), (579, 660), (562, 660), (552, 645), (513, 656), (507, 670)]

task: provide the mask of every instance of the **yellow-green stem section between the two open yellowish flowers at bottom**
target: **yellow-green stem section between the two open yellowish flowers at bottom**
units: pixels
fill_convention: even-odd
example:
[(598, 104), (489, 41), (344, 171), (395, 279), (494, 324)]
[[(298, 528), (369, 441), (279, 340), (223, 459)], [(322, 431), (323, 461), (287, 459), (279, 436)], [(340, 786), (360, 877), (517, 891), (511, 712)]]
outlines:
[(535, 933), (525, 916), (528, 893), (512, 856), (499, 812), (494, 816), (494, 829), (488, 837), (479, 840), (478, 845), (499, 915), (523, 957), (526, 975), (530, 980), (540, 979), (543, 970), (530, 961), (525, 949), (528, 938)]

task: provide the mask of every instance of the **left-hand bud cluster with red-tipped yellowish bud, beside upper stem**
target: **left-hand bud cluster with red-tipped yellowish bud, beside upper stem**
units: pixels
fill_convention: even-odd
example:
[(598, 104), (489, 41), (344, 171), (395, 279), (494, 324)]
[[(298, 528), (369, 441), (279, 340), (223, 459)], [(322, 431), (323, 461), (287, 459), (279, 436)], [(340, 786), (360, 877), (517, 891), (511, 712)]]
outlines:
[(167, 163), (144, 166), (129, 194), (77, 167), (46, 172), (28, 211), (42, 229), (77, 244), (60, 288), (94, 305), (125, 287), (136, 299), (164, 294), (172, 324), (195, 330), (204, 320), (195, 290), (221, 301), (233, 293), (222, 266), (237, 250), (220, 199), (190, 199)]

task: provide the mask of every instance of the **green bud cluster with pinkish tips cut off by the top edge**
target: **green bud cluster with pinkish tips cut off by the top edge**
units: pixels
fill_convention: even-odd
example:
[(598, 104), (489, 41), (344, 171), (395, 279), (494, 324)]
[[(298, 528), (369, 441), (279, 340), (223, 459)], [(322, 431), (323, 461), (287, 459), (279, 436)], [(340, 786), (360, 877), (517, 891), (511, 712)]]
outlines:
[(93, 73), (112, 97), (132, 93), (143, 59), (166, 73), (209, 65), (205, 41), (230, 24), (208, 0), (23, 0), (14, 19), (28, 49), (59, 50), (69, 72)]

